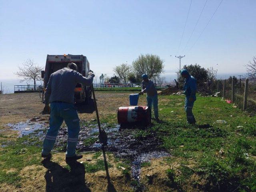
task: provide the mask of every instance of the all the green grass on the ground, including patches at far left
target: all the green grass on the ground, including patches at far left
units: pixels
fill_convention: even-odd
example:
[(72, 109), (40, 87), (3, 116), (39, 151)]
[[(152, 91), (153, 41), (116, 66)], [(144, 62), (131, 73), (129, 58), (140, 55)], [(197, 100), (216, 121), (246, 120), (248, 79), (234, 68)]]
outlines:
[[(146, 99), (145, 96), (142, 99)], [(194, 180), (192, 183), (203, 185), (201, 187), (205, 191), (256, 190), (256, 116), (234, 108), (233, 104), (227, 104), (221, 98), (198, 96), (193, 108), (197, 124), (189, 125), (186, 124), (184, 96), (159, 96), (158, 99), (162, 122), (154, 121), (152, 127), (139, 130), (134, 136), (139, 139), (146, 139), (151, 134), (157, 136), (162, 141), (160, 147), (172, 155), (166, 158), (166, 162), (180, 164), (178, 170), (166, 172), (166, 179), (172, 186), (176, 185), (180, 190), (196, 174), (204, 182)], [(218, 124), (216, 120), (227, 123)], [(111, 127), (116, 121), (116, 114), (101, 118), (102, 123), (107, 123), (106, 127)], [(8, 137), (0, 135), (0, 142), (6, 141)], [(84, 140), (84, 144), (90, 145), (95, 141), (96, 138), (92, 137)], [(41, 147), (42, 142), (37, 138), (24, 136), (2, 148), (0, 183), (19, 186), (22, 182), (20, 170), (28, 165), (40, 164)], [(96, 152), (93, 158), (97, 159), (100, 155), (101, 152)], [(117, 168), (126, 168), (124, 175), (130, 175), (130, 162), (119, 158), (114, 161), (118, 162)], [(88, 173), (105, 170), (103, 160), (83, 164)], [(193, 169), (188, 168), (189, 164), (193, 164)], [(143, 166), (150, 164), (145, 162)], [(11, 168), (14, 172), (7, 173)]]

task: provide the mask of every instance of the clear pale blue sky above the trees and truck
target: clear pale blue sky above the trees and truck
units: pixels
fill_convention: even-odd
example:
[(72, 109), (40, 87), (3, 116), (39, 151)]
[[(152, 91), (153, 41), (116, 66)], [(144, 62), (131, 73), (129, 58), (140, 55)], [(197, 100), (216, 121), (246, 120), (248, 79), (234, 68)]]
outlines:
[(168, 79), (179, 67), (175, 55), (219, 76), (244, 74), (256, 56), (256, 0), (221, 1), (0, 0), (0, 81), (17, 80), (28, 58), (44, 67), (47, 54), (83, 54), (97, 76), (147, 53), (164, 60)]

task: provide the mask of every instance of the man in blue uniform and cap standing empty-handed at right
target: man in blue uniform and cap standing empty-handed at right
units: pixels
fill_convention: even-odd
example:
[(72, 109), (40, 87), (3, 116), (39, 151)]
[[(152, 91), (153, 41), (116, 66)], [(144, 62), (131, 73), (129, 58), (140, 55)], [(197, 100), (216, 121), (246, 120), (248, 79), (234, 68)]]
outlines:
[(183, 69), (180, 74), (182, 75), (182, 77), (185, 78), (183, 90), (184, 95), (186, 96), (185, 111), (187, 116), (187, 122), (189, 124), (195, 124), (196, 119), (193, 115), (192, 108), (194, 106), (194, 102), (196, 101), (196, 79), (191, 76), (186, 69)]

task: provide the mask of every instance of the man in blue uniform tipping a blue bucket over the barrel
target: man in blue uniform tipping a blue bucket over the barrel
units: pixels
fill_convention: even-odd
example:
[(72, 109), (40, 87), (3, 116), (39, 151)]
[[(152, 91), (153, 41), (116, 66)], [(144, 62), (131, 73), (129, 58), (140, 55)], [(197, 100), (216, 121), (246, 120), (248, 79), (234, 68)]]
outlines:
[(147, 93), (147, 106), (150, 107), (150, 110), (152, 109), (152, 104), (154, 107), (154, 116), (156, 121), (159, 120), (158, 116), (158, 96), (157, 96), (157, 91), (155, 84), (152, 80), (148, 79), (147, 74), (143, 74), (142, 76), (142, 90), (139, 92), (139, 95), (142, 95), (144, 93)]

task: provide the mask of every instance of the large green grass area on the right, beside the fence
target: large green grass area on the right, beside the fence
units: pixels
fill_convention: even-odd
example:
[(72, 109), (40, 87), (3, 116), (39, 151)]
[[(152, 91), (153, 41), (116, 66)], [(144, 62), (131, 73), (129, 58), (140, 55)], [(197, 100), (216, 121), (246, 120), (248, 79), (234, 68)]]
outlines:
[[(162, 138), (162, 146), (175, 158), (194, 160), (194, 170), (206, 178), (204, 187), (207, 190), (214, 191), (220, 187), (225, 191), (236, 188), (248, 191), (248, 185), (250, 190), (255, 187), (252, 185), (256, 183), (253, 157), (256, 151), (255, 116), (251, 117), (220, 98), (198, 97), (193, 108), (197, 125), (188, 125), (183, 108), (184, 98), (176, 95), (163, 98), (159, 108), (164, 122), (154, 124), (151, 130)], [(226, 120), (227, 123), (217, 124), (216, 120)], [(243, 127), (239, 130), (237, 126)], [(218, 155), (221, 148), (224, 150), (222, 156)], [(176, 184), (182, 184), (194, 173), (186, 166), (179, 169), (178, 176), (172, 170), (167, 173), (167, 177), (174, 178), (172, 182)]]

